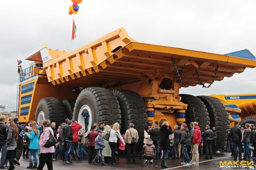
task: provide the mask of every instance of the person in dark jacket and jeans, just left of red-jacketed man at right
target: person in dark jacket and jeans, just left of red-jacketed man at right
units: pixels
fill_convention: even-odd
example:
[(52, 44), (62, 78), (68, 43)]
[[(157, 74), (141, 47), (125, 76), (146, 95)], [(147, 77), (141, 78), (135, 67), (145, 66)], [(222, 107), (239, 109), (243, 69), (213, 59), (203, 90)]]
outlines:
[(187, 124), (186, 123), (182, 123), (181, 125), (181, 138), (180, 138), (180, 144), (182, 146), (182, 154), (184, 156), (184, 161), (181, 162), (181, 164), (191, 164), (190, 160), (189, 160), (189, 156), (188, 156), (188, 146), (186, 145), (186, 138), (189, 138), (189, 130), (187, 128)]

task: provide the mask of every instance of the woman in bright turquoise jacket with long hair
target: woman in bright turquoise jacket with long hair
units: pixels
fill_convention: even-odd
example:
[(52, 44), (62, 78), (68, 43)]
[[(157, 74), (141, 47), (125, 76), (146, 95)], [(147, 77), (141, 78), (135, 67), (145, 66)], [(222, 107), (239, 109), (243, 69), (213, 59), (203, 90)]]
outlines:
[[(36, 122), (32, 122), (31, 127), (32, 127), (32, 131), (30, 132), (30, 134), (26, 135), (30, 139), (30, 145), (29, 145), (30, 159), (29, 159), (29, 166), (27, 166), (27, 168), (36, 169), (37, 162), (38, 162), (40, 130), (39, 130), (39, 125), (37, 125)], [(33, 159), (35, 159), (34, 166), (33, 166)]]

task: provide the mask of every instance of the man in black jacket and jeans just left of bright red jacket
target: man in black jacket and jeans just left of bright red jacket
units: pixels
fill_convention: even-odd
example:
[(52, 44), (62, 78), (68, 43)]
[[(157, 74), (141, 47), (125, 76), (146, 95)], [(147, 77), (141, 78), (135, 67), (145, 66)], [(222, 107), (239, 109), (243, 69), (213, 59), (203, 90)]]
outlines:
[(72, 132), (72, 121), (68, 121), (68, 126), (65, 129), (65, 140), (67, 144), (67, 149), (65, 153), (65, 160), (64, 162), (67, 164), (73, 163), (72, 160), (70, 160), (70, 152), (71, 152), (71, 146), (72, 146), (72, 140), (73, 140), (73, 132)]

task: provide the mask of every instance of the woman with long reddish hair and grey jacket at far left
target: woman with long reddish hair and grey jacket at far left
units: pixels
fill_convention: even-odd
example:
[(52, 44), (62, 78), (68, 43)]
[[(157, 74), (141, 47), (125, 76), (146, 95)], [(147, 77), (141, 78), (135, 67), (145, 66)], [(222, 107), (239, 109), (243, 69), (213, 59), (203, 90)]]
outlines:
[(10, 166), (8, 170), (14, 169), (13, 158), (16, 154), (17, 140), (18, 140), (18, 128), (14, 124), (14, 121), (10, 121), (8, 123), (8, 127), (6, 128), (7, 139), (6, 139), (6, 148), (8, 160), (10, 162)]

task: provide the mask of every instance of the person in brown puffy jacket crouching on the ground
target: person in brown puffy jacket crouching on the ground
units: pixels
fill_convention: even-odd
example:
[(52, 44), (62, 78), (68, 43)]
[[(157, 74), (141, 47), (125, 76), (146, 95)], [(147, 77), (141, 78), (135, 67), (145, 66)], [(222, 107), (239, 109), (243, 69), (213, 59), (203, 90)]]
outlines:
[(156, 156), (156, 147), (152, 139), (148, 138), (146, 144), (143, 145), (142, 153), (141, 157), (144, 159), (144, 164), (148, 163), (148, 159), (150, 160), (150, 164), (153, 164), (153, 159)]

